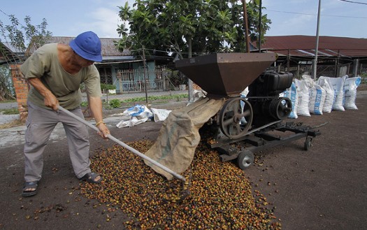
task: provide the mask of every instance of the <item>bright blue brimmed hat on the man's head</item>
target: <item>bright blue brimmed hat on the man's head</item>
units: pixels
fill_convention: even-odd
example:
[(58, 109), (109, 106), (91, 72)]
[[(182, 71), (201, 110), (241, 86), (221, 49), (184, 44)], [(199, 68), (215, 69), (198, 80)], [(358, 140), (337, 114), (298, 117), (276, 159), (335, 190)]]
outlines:
[(69, 43), (70, 47), (82, 58), (93, 62), (101, 62), (101, 41), (92, 31), (76, 36)]

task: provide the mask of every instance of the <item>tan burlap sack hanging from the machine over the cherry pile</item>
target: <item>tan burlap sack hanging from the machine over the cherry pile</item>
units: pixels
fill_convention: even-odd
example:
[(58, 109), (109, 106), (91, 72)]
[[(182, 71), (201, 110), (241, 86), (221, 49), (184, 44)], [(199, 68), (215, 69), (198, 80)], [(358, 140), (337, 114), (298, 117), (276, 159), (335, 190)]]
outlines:
[[(201, 98), (185, 108), (173, 110), (162, 124), (157, 141), (145, 155), (176, 173), (183, 173), (192, 163), (200, 142), (199, 129), (217, 114), (223, 104), (224, 99)], [(173, 178), (149, 161), (144, 162), (168, 180)]]

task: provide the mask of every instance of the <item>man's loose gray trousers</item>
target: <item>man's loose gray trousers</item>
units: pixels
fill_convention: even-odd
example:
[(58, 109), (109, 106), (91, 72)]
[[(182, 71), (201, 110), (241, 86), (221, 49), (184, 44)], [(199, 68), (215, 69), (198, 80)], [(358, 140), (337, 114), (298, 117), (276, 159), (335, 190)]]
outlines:
[[(75, 108), (70, 112), (84, 119), (80, 108)], [(24, 144), (25, 181), (41, 179), (43, 151), (58, 122), (62, 122), (65, 129), (70, 159), (76, 177), (81, 178), (85, 173), (91, 172), (89, 168), (89, 134), (85, 124), (60, 110), (47, 110), (28, 101), (27, 130)]]

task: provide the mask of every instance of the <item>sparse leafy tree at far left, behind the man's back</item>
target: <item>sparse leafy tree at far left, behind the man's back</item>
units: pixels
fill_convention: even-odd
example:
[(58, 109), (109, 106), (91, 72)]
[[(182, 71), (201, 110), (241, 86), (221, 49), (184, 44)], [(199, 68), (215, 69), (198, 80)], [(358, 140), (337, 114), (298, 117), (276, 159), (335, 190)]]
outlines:
[[(24, 17), (24, 25), (19, 22), (15, 15), (9, 15), (10, 24), (4, 24), (0, 20), (0, 35), (3, 38), (2, 41), (10, 44), (17, 53), (9, 52), (3, 45), (0, 47), (1, 57), (4, 59), (4, 63), (7, 65), (1, 66), (0, 71), (0, 100), (14, 99), (13, 81), (10, 73), (9, 64), (15, 64), (16, 62), (22, 62), (29, 57), (27, 49), (31, 46), (37, 49), (47, 43), (52, 36), (52, 33), (46, 30), (48, 25), (45, 18), (43, 18), (41, 24), (34, 26), (31, 24), (31, 17)], [(1, 41), (1, 40), (0, 40)]]

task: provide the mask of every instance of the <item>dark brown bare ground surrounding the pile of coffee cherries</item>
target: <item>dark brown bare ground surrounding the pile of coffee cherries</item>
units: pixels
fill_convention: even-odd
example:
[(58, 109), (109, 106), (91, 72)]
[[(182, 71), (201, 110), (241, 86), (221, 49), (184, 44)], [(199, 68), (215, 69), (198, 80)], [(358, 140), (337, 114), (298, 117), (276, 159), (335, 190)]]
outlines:
[[(317, 128), (322, 135), (314, 138), (308, 151), (302, 139), (258, 152), (257, 164), (245, 171), (253, 189), (276, 207), (282, 229), (366, 229), (366, 93), (357, 96), (357, 107), (291, 120), (311, 127), (324, 124)], [(109, 126), (121, 141), (154, 141), (161, 123)], [(90, 136), (92, 151), (114, 144), (93, 131)], [(75, 190), (79, 181), (66, 145), (65, 138), (50, 141), (38, 194), (27, 199), (21, 196), (23, 145), (1, 148), (0, 229), (123, 229), (121, 211), (108, 213), (108, 207)]]

